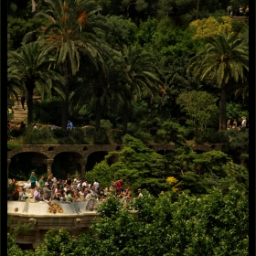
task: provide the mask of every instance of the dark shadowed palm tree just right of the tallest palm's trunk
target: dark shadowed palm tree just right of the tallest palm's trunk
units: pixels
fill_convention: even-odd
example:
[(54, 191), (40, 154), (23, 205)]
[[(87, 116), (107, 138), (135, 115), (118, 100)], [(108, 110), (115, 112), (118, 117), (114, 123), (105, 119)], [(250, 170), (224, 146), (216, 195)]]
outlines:
[[(85, 78), (80, 78), (80, 86), (70, 96), (70, 112), (80, 110), (87, 105), (88, 110), (95, 112), (95, 128), (101, 127), (101, 112), (109, 113), (122, 107), (126, 99), (125, 85), (129, 83), (124, 73), (123, 62), (115, 51), (112, 59), (104, 58), (107, 72), (103, 69), (89, 69)], [(84, 86), (84, 84), (87, 86)]]

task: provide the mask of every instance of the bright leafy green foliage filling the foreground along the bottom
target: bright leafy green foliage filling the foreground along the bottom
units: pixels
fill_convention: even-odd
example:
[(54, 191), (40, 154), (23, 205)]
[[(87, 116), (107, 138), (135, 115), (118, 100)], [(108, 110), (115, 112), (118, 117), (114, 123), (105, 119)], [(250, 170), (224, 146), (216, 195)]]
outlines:
[[(133, 202), (130, 213), (112, 197), (100, 206), (101, 218), (87, 234), (71, 237), (49, 230), (35, 252), (20, 251), (8, 237), (8, 252), (18, 255), (249, 255), (248, 193), (234, 183), (227, 194), (161, 193)], [(9, 254), (8, 255), (11, 255)], [(15, 255), (15, 254), (12, 254)]]

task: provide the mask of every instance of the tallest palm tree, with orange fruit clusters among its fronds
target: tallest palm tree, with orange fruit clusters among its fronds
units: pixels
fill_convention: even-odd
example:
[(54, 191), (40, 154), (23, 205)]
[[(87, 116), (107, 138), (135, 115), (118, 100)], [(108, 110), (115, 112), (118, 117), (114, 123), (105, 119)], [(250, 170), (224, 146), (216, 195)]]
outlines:
[[(61, 127), (66, 128), (69, 116), (70, 73), (75, 75), (80, 69), (80, 58), (86, 59), (89, 66), (98, 69), (103, 66), (102, 55), (108, 54), (103, 42), (97, 36), (98, 31), (105, 31), (105, 18), (99, 15), (101, 8), (90, 0), (45, 0), (48, 9), (36, 14), (50, 22), (48, 27), (41, 27), (43, 35), (38, 37), (45, 43), (53, 43), (56, 50), (56, 66), (61, 67), (64, 79), (62, 99)], [(33, 31), (25, 37), (35, 35)], [(70, 70), (70, 71), (69, 71)]]

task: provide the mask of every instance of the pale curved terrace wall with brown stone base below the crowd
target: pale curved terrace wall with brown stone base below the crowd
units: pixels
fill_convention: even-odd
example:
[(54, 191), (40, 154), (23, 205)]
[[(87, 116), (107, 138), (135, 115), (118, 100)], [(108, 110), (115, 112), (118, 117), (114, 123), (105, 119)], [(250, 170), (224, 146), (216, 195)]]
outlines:
[(7, 214), (12, 216), (11, 225), (16, 228), (18, 221), (22, 223), (34, 222), (33, 229), (25, 235), (18, 235), (16, 243), (31, 244), (35, 249), (44, 242), (45, 234), (49, 229), (67, 229), (70, 235), (78, 235), (87, 232), (93, 219), (98, 218), (96, 211), (86, 211), (86, 201), (73, 202), (71, 204), (58, 204), (63, 212), (52, 213), (47, 203), (30, 203), (19, 201), (7, 201)]

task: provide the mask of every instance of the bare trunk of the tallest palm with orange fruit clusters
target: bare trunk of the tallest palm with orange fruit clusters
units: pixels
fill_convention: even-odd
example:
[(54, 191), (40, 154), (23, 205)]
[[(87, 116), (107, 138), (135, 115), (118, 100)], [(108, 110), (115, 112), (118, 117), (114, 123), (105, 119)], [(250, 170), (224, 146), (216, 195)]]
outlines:
[(66, 129), (69, 118), (69, 69), (68, 60), (63, 63), (65, 98), (62, 100), (61, 128)]

